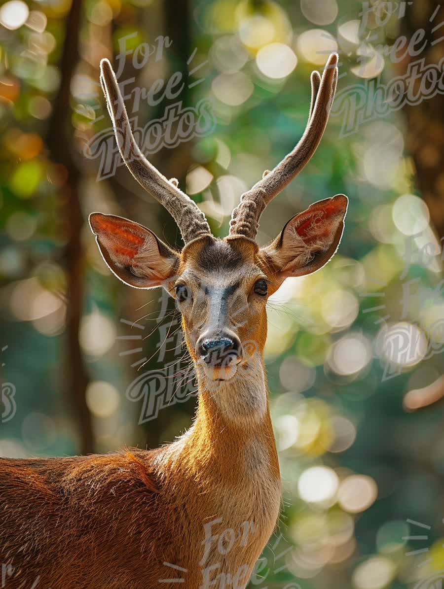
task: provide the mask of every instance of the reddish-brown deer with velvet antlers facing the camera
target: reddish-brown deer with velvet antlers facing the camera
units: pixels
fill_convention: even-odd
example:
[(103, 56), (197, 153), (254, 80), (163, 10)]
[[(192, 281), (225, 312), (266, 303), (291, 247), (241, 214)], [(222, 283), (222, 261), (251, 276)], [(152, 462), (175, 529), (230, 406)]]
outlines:
[(104, 262), (125, 284), (163, 287), (182, 316), (198, 403), (185, 434), (157, 449), (0, 459), (0, 564), (6, 589), (245, 588), (281, 506), (264, 345), (267, 300), (288, 277), (336, 253), (348, 198), (295, 214), (271, 243), (256, 234), (267, 204), (314, 154), (336, 91), (338, 57), (311, 74), (296, 147), (242, 194), (229, 234), (212, 235), (198, 205), (138, 147), (107, 59), (100, 80), (121, 157), (171, 214), (184, 246), (123, 217), (92, 213)]

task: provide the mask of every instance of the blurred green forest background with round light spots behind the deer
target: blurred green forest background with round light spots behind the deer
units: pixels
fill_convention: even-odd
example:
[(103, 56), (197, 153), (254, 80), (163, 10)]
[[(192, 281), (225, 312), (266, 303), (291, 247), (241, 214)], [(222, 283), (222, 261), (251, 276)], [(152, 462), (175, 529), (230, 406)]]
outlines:
[[(444, 569), (444, 415), (439, 403), (406, 411), (409, 391), (431, 385), (410, 409), (444, 394), (444, 101), (436, 78), (420, 87), (425, 74), (416, 104), (377, 91), (412, 62), (439, 64), (442, 21), (429, 0), (2, 2), (0, 455), (154, 447), (192, 420), (174, 305), (111, 276), (88, 228), (92, 211), (120, 214), (180, 247), (126, 168), (98, 179), (100, 159), (87, 157), (110, 136), (100, 59), (121, 67), (130, 108), (132, 89), (181, 72), (179, 98), (132, 104), (139, 127), (177, 100), (211, 100), (211, 133), (150, 158), (223, 236), (242, 191), (301, 137), (310, 72), (338, 51), (323, 141), (258, 237), (313, 201), (350, 198), (333, 262), (288, 279), (268, 305), (284, 508), (251, 586), (400, 589)], [(158, 54), (161, 35), (171, 43)]]

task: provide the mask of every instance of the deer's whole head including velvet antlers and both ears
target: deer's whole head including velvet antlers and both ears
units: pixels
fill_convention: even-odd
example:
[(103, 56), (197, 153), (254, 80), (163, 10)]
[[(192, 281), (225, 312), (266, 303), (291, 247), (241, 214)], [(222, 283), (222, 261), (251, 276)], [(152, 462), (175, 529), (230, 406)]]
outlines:
[(182, 313), (186, 344), (206, 382), (231, 379), (252, 355), (261, 357), (267, 337), (268, 297), (290, 276), (316, 272), (333, 257), (344, 229), (348, 199), (318, 201), (292, 217), (267, 246), (255, 236), (265, 207), (310, 160), (327, 125), (337, 82), (337, 55), (322, 78), (311, 75), (311, 107), (301, 140), (233, 210), (228, 237), (212, 236), (208, 222), (177, 180), (146, 160), (131, 132), (110, 62), (101, 62), (101, 84), (121, 156), (134, 178), (165, 206), (185, 242), (181, 252), (134, 221), (92, 213), (90, 224), (103, 259), (130, 286), (163, 286)]

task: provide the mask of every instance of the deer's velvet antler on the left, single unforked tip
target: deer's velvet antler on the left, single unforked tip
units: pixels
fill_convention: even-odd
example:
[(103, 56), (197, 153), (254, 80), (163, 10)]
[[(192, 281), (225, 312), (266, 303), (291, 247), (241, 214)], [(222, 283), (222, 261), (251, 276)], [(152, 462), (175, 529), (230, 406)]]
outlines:
[(211, 235), (205, 215), (189, 196), (177, 188), (176, 178), (167, 180), (140, 151), (131, 131), (116, 75), (108, 59), (100, 62), (100, 82), (120, 154), (131, 174), (171, 214), (185, 243), (196, 237)]

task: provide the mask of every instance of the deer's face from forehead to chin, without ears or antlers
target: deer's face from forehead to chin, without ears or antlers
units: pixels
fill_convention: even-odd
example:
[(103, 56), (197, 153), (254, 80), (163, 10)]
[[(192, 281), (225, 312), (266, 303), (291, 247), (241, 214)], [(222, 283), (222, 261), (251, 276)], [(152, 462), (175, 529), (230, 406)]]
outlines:
[(244, 238), (210, 237), (182, 253), (175, 297), (192, 358), (208, 379), (232, 378), (264, 347), (269, 280), (257, 253)]

